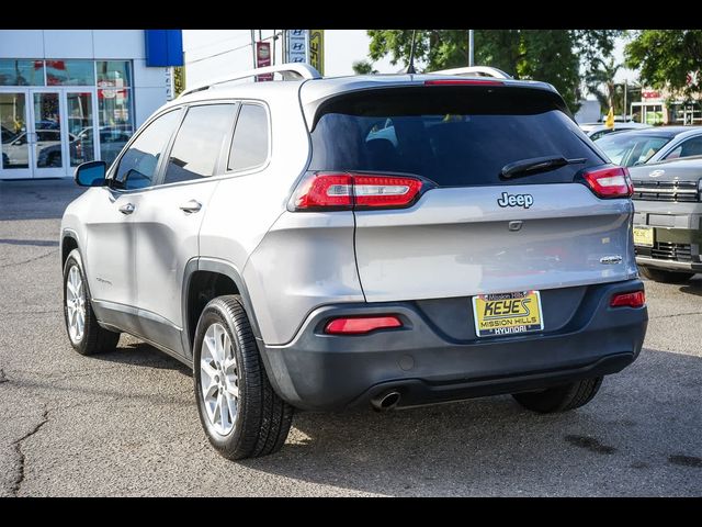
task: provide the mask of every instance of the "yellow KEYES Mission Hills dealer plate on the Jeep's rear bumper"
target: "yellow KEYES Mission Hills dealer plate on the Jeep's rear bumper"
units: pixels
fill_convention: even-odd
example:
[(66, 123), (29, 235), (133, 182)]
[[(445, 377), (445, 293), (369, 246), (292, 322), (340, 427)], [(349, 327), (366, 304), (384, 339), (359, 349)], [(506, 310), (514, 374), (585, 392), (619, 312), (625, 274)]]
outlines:
[(473, 296), (473, 317), (478, 337), (539, 332), (544, 328), (539, 291), (478, 294)]

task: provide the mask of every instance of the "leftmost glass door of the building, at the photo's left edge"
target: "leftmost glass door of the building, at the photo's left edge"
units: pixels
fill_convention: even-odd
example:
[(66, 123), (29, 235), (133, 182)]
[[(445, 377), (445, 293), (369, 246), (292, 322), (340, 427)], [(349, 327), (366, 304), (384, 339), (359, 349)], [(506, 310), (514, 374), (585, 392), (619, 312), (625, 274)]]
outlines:
[(0, 179), (32, 177), (27, 90), (0, 91)]

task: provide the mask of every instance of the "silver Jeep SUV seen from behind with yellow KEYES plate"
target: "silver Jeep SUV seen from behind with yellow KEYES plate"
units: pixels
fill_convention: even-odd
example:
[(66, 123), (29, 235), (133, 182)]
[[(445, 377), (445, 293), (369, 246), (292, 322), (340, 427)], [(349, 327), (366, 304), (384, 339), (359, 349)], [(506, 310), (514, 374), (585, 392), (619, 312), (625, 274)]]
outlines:
[(109, 169), (77, 169), (92, 188), (60, 232), (76, 350), (127, 333), (192, 367), (231, 459), (281, 448), (294, 407), (508, 393), (559, 412), (634, 361), (629, 173), (551, 85), (241, 77), (270, 72), (190, 90)]

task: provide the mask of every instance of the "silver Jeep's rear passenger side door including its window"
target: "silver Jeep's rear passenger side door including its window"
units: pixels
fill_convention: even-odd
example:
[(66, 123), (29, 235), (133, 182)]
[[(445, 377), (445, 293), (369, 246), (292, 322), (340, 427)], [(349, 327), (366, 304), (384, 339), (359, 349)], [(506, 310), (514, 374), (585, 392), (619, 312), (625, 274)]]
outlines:
[(237, 104), (192, 105), (170, 148), (160, 184), (134, 214), (137, 304), (143, 334), (181, 351), (181, 289), (188, 261), (200, 254), (200, 226), (224, 173)]

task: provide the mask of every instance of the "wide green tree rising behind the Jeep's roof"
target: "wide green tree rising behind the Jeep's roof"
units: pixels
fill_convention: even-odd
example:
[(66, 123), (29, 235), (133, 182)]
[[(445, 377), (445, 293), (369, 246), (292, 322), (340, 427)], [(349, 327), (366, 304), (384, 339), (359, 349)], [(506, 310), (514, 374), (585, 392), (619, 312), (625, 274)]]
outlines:
[[(389, 56), (407, 65), (411, 30), (369, 30), (369, 57)], [(571, 110), (580, 99), (580, 67), (612, 52), (618, 30), (475, 30), (475, 61), (507, 71), (519, 79), (551, 82)], [(417, 30), (415, 53), (424, 71), (468, 64), (467, 30)], [(418, 68), (419, 69), (419, 68)]]

